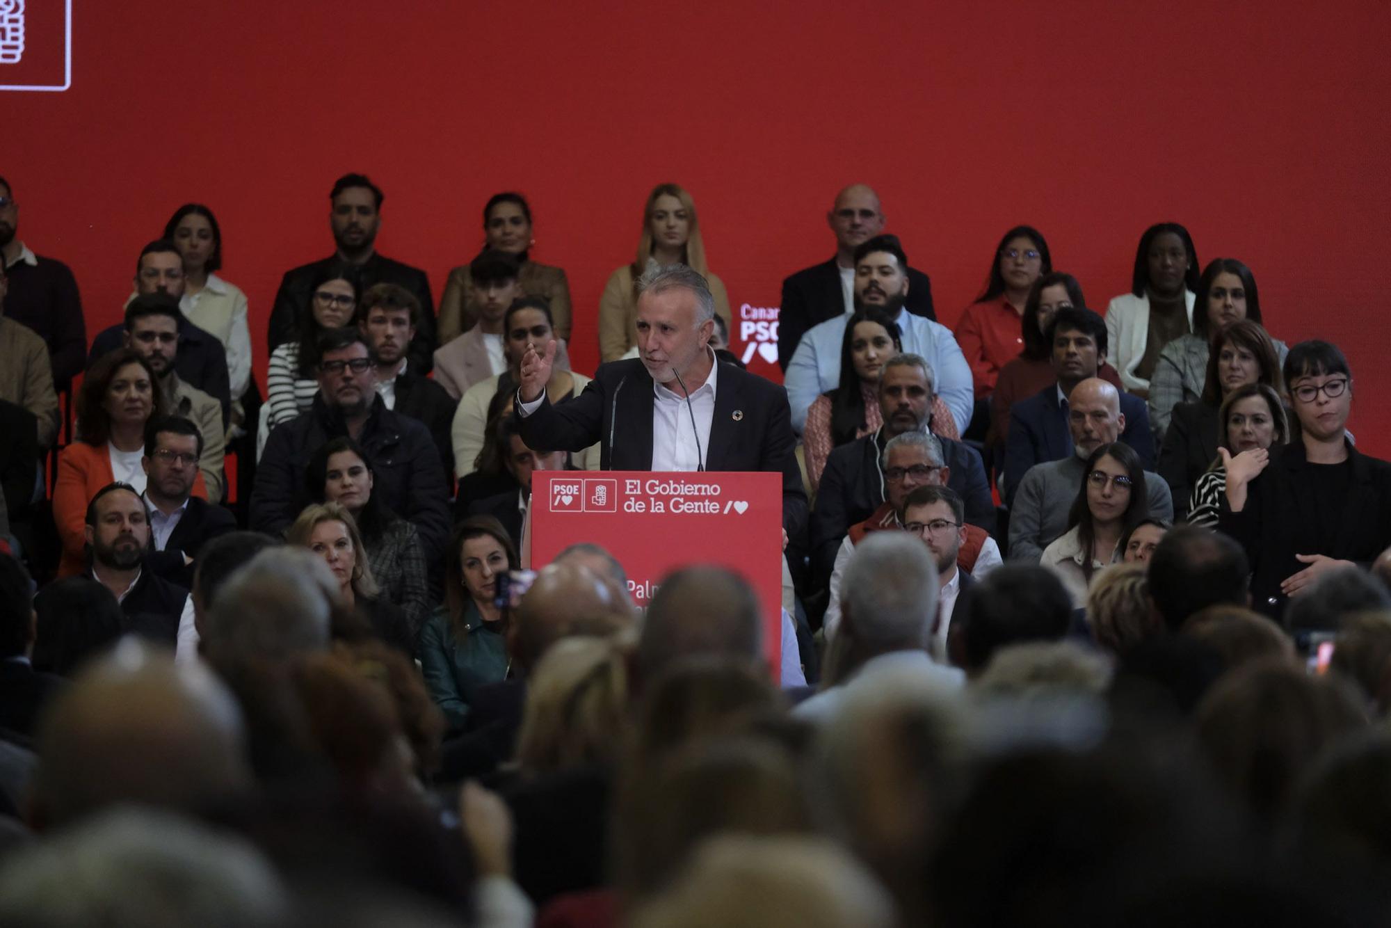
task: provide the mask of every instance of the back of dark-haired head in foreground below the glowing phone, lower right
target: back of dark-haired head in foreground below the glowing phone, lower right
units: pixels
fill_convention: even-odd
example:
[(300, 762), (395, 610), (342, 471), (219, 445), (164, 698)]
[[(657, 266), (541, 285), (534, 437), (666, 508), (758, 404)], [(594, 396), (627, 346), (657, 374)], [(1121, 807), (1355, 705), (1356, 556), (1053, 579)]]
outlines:
[(1219, 679), (1196, 721), (1217, 779), (1273, 825), (1320, 750), (1365, 729), (1367, 717), (1344, 680), (1259, 661)]

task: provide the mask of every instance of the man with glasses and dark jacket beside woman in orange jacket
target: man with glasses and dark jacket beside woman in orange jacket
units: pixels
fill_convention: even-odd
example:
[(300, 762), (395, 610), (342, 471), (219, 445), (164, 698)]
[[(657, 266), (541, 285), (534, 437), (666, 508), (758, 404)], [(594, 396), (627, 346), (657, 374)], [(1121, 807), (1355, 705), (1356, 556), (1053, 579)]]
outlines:
[(166, 416), (145, 426), (145, 504), (150, 511), (150, 541), (159, 552), (150, 568), (166, 580), (192, 589), (193, 566), (203, 545), (232, 531), (231, 512), (193, 495), (203, 434), (188, 419)]

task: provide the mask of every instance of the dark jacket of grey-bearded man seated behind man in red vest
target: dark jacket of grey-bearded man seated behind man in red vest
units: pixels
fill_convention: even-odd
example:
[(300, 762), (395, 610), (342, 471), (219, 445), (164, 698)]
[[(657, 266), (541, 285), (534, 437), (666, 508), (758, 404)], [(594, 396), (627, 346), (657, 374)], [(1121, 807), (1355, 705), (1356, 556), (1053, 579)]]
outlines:
[[(883, 504), (879, 472), (878, 431), (832, 449), (817, 488), (817, 511), (811, 515), (811, 557), (818, 576), (829, 577), (836, 551), (850, 526), (868, 519)], [(996, 527), (995, 499), (985, 477), (981, 454), (951, 438), (936, 437), (951, 473), (947, 486), (965, 501), (965, 520), (986, 531)]]

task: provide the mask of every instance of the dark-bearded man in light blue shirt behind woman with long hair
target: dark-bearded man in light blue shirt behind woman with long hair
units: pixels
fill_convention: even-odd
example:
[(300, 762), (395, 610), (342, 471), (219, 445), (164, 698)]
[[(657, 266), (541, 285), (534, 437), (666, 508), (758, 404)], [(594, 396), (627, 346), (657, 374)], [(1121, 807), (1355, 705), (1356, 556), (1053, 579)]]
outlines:
[[(904, 303), (908, 298), (908, 257), (893, 235), (876, 235), (855, 249), (855, 309), (878, 306), (894, 317), (903, 351), (926, 358), (936, 374), (936, 388), (951, 410), (957, 433), (971, 423), (975, 388), (971, 367), (965, 363), (956, 337), (946, 326), (914, 316)], [(817, 397), (840, 384), (840, 346), (849, 316), (836, 316), (814, 326), (787, 365), (787, 402), (791, 424), (798, 433), (807, 422), (807, 409)]]

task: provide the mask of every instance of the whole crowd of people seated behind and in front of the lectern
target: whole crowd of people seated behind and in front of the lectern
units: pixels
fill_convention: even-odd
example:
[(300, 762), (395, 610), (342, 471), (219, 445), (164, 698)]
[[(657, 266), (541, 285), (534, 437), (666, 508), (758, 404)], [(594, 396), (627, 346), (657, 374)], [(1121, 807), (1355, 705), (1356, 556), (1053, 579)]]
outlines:
[[(438, 316), (328, 199), (264, 337), (186, 203), (89, 344), (0, 179), (0, 924), (1385, 921), (1391, 463), (1245, 263), (1150, 225), (1102, 316), (1017, 225), (953, 331), (849, 186), (779, 388), (682, 186), (590, 309), (497, 193)], [(538, 472), (704, 467), (740, 390), (782, 615), (529, 562)]]

